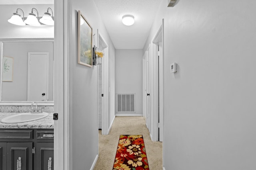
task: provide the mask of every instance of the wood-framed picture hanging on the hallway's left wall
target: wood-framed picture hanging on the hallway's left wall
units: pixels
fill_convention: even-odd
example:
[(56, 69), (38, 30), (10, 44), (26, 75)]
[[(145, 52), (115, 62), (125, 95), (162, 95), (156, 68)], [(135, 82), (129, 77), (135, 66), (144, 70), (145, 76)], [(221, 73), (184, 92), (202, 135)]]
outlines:
[(92, 67), (92, 27), (78, 11), (78, 64)]

